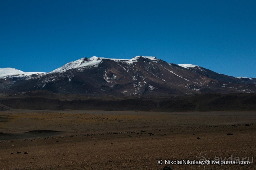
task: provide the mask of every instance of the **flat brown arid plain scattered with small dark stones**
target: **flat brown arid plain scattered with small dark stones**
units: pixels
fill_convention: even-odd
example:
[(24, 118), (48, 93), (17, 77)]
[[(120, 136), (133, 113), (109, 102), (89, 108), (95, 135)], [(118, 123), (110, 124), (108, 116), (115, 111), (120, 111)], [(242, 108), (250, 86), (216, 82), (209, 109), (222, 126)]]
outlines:
[(251, 164), (172, 166), (253, 170), (255, 123), (255, 111), (6, 110), (0, 112), (0, 169), (162, 170), (160, 159), (244, 158)]

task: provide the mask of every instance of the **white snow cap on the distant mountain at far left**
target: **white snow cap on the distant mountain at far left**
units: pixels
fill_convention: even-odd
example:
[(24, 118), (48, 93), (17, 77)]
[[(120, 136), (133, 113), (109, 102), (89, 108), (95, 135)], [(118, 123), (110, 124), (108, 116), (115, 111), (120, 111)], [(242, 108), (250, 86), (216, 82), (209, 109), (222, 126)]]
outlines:
[(4, 76), (25, 76), (25, 75), (42, 75), (46, 72), (23, 72), (15, 68), (0, 68), (0, 77)]

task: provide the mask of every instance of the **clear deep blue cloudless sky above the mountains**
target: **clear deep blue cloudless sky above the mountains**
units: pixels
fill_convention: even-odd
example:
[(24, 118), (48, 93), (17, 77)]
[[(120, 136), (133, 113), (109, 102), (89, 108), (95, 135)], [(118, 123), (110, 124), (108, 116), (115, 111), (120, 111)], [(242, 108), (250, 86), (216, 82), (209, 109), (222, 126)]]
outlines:
[(0, 68), (137, 55), (256, 78), (256, 1), (0, 0)]

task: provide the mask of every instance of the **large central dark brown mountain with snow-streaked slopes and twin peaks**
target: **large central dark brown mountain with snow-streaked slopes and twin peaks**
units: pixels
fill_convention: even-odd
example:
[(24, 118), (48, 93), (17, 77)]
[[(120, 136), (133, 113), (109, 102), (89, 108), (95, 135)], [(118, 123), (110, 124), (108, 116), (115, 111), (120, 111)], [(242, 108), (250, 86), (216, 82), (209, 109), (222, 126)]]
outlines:
[(255, 79), (219, 74), (191, 64), (170, 64), (156, 57), (82, 58), (33, 79), (16, 81), (1, 91), (47, 90), (101, 95), (186, 95), (256, 91)]

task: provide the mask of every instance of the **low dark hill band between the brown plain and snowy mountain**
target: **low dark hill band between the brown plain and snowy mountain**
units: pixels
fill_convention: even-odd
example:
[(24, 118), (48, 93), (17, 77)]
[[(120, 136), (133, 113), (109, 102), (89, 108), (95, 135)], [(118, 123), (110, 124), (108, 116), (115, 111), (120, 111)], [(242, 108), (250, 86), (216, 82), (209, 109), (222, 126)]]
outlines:
[(184, 96), (87, 96), (30, 91), (0, 98), (0, 108), (36, 110), (256, 111), (255, 93)]

